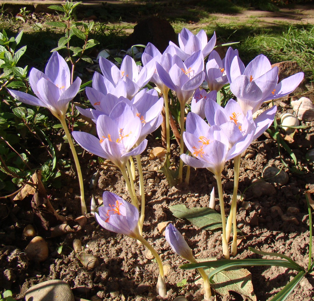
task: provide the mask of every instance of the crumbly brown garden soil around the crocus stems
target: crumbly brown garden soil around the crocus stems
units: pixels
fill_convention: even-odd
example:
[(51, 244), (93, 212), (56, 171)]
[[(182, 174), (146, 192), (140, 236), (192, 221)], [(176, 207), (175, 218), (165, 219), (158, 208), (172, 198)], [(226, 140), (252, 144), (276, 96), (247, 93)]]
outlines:
[[(286, 111), (292, 112), (289, 100), (284, 99), (279, 106), (277, 117)], [(313, 162), (306, 160), (306, 154), (314, 147), (314, 122), (302, 121), (302, 124), (308, 127), (297, 129), (293, 137), (287, 137), (281, 132), (296, 155), (298, 172), (290, 171), (283, 165), (282, 160), (290, 169), (295, 164), (283, 148), (279, 154), (277, 142), (267, 134), (254, 141), (250, 152), (243, 154), (239, 191), (244, 193), (245, 199), (238, 201), (237, 223), (244, 226), (241, 228), (242, 234), (238, 241), (236, 255), (238, 259), (260, 258), (260, 255), (248, 250), (248, 247), (254, 247), (267, 252), (285, 254), (307, 268), (310, 232), (304, 191), (314, 188)], [(177, 296), (185, 296), (189, 301), (202, 300), (201, 284), (194, 283), (198, 278), (197, 272), (179, 268), (187, 261), (174, 254), (157, 225), (160, 222), (171, 221), (184, 235), (198, 259), (222, 258), (221, 231), (198, 228), (187, 220), (174, 217), (169, 209), (171, 205), (176, 204), (184, 204), (189, 208), (208, 207), (209, 194), (212, 188), (216, 187), (216, 180), (208, 170), (191, 169), (189, 185), (170, 187), (164, 175), (158, 172), (162, 162), (158, 158), (149, 160), (149, 151), (157, 146), (161, 146), (160, 140), (149, 136), (148, 148), (142, 154), (146, 183), (143, 236), (161, 254), (166, 266), (166, 300), (173, 300)], [(178, 145), (172, 141), (172, 157), (177, 158), (178, 152)], [(66, 146), (59, 149), (58, 158), (71, 158)], [(93, 161), (94, 164), (90, 164), (90, 160), (97, 158), (89, 153), (83, 153), (80, 158), (84, 170), (88, 210), (91, 196), (93, 195), (97, 202), (104, 190), (129, 199), (118, 170), (106, 162), (99, 165)], [(273, 195), (267, 195), (266, 191), (263, 192), (266, 195), (257, 196), (254, 186), (251, 185), (252, 179), (260, 178), (263, 167), (267, 165), (282, 168), (288, 173), (289, 181), (285, 185), (272, 183), (275, 191)], [(51, 238), (50, 228), (60, 222), (52, 220), (49, 216), (38, 218), (38, 211), (34, 209), (32, 203), (33, 195), (21, 201), (13, 201), (13, 197), (0, 199), (0, 293), (11, 289), (16, 299), (22, 299), (32, 285), (49, 279), (61, 279), (68, 282), (77, 300), (80, 300), (79, 298), (92, 300), (95, 296), (108, 301), (161, 300), (155, 292), (158, 266), (151, 254), (134, 239), (100, 228), (90, 213), (87, 214), (86, 223), (79, 225), (75, 221), (75, 218), (80, 216), (79, 188), (75, 172), (72, 169), (61, 171), (62, 187), (60, 189), (48, 187), (46, 193), (57, 212), (67, 218), (67, 223), (72, 229), (70, 233)], [(96, 172), (99, 172), (100, 177), (95, 187), (92, 187), (89, 182)], [(225, 164), (222, 183), (225, 210), (228, 215), (230, 211), (228, 195), (232, 194), (233, 190), (232, 162)], [(138, 187), (136, 189), (138, 192)], [(216, 193), (216, 204), (217, 197)], [(274, 206), (280, 207), (289, 218), (287, 220), (281, 218), (278, 210), (274, 210)], [(216, 205), (216, 210), (220, 210), (219, 205)], [(46, 229), (43, 227), (43, 220), (49, 220), (49, 227)], [(22, 232), (28, 224), (32, 224), (37, 234), (45, 237), (48, 244), (49, 257), (43, 262), (30, 261), (25, 255), (24, 250), (30, 238), (23, 238)], [(80, 239), (84, 252), (98, 258), (97, 267), (87, 269), (81, 264), (73, 250), (73, 239)], [(248, 270), (252, 274), (256, 299), (260, 301), (270, 300), (296, 275), (294, 271), (281, 267), (252, 267)], [(186, 285), (177, 286), (183, 279), (187, 280)], [(314, 279), (312, 274), (308, 274), (287, 300), (310, 301), (314, 298), (313, 288)], [(224, 297), (217, 295), (217, 300), (245, 299), (233, 292)]]

